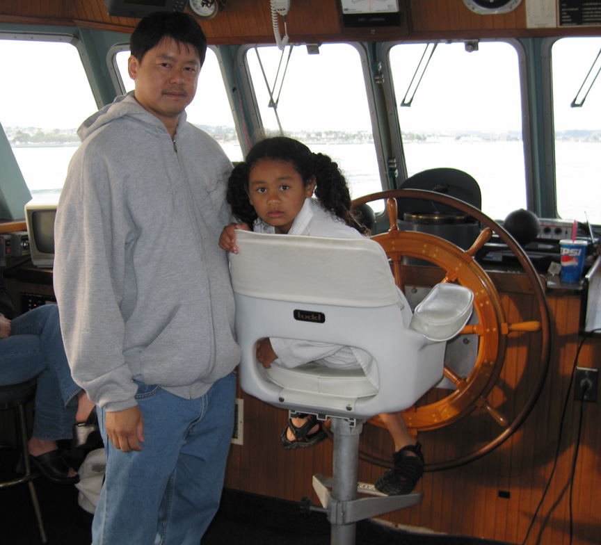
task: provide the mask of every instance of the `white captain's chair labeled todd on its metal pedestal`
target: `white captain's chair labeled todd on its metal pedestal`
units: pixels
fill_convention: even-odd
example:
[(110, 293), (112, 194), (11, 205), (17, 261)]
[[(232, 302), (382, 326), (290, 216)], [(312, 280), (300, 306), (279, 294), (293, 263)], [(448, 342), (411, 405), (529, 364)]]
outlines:
[[(314, 475), (313, 486), (332, 523), (332, 545), (352, 544), (356, 521), (414, 505), (423, 496), (383, 496), (361, 483), (361, 493), (376, 497), (358, 498), (362, 421), (410, 407), (441, 379), (445, 341), (470, 318), (473, 294), (437, 284), (412, 313), (384, 250), (367, 238), (238, 230), (236, 243), (230, 269), (241, 387), (291, 415), (331, 418), (334, 475)], [(370, 382), (360, 369), (314, 363), (266, 369), (256, 357), (257, 341), (265, 337), (360, 348), (373, 357), (376, 378)]]

